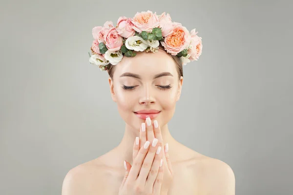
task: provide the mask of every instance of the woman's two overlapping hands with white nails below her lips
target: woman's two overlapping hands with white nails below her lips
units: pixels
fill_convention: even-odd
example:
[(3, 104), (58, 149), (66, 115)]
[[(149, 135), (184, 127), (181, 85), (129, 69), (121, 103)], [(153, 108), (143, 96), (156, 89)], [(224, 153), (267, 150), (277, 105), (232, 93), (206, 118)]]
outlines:
[(167, 195), (173, 171), (157, 120), (147, 117), (142, 123), (133, 145), (133, 163), (124, 161), (124, 166), (119, 195)]

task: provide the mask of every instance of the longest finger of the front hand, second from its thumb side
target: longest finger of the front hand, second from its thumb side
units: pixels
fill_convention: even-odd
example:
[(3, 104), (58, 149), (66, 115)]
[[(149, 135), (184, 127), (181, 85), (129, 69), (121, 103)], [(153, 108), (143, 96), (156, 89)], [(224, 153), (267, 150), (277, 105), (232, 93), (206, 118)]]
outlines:
[(158, 146), (158, 139), (157, 138), (154, 138), (153, 139), (153, 142), (152, 142), (152, 145), (149, 147), (149, 150), (146, 154), (146, 158), (142, 164), (142, 167), (141, 167), (141, 170), (139, 172), (139, 176), (137, 177), (137, 181), (138, 183), (146, 183), (146, 177), (148, 176), (149, 174), (149, 171), (151, 169), (151, 166), (154, 162), (154, 158), (156, 155), (156, 152), (157, 152), (157, 149), (160, 147), (159, 150), (162, 149), (162, 146)]

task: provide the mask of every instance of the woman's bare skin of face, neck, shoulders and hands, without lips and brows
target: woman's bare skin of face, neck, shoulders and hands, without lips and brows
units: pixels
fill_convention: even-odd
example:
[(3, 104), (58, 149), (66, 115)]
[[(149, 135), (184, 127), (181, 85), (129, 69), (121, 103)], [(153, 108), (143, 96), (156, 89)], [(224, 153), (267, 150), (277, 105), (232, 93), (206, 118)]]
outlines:
[[(154, 78), (166, 72), (171, 76)], [(139, 78), (121, 77), (124, 73)], [(167, 123), (174, 115), (182, 84), (175, 62), (162, 50), (124, 57), (116, 65), (113, 79), (109, 78), (111, 97), (126, 123), (124, 137), (103, 156), (72, 168), (63, 180), (62, 195), (235, 195), (235, 177), (228, 164), (189, 149), (168, 130)], [(135, 87), (127, 90), (124, 85)], [(146, 125), (146, 132), (141, 128), (146, 121), (134, 114), (143, 109), (161, 111), (150, 126)], [(139, 145), (135, 143), (136, 137), (140, 139)], [(155, 138), (158, 144), (152, 147)], [(150, 146), (144, 149), (146, 141)], [(168, 152), (163, 147), (166, 143)], [(162, 150), (157, 155), (154, 151), (159, 146)]]

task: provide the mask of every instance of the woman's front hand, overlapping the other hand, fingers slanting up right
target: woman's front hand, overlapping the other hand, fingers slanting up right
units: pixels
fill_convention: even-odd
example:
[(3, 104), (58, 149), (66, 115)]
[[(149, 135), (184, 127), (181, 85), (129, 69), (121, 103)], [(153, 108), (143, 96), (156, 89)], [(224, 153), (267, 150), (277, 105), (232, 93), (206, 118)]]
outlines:
[[(160, 195), (163, 180), (162, 146), (163, 143), (157, 138), (152, 143), (146, 141), (139, 149), (132, 166), (124, 162), (126, 174), (119, 188), (119, 195)], [(138, 139), (133, 147), (139, 148)]]

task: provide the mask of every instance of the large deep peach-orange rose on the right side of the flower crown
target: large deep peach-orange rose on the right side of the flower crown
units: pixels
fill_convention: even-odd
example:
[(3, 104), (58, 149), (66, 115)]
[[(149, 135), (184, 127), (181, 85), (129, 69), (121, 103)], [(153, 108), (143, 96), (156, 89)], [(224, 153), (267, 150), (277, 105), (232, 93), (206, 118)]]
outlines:
[(167, 35), (164, 41), (161, 41), (165, 50), (173, 56), (187, 49), (190, 43), (189, 31), (181, 23), (173, 22), (172, 33)]

